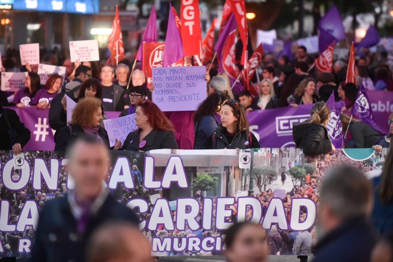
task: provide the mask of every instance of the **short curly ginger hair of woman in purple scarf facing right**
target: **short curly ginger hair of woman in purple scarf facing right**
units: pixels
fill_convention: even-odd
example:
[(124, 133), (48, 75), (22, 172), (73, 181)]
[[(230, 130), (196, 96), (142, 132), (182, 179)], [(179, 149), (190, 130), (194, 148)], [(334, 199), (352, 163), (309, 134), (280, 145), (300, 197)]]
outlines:
[(76, 126), (86, 127), (89, 126), (93, 115), (98, 108), (101, 108), (101, 100), (97, 97), (84, 97), (75, 106), (72, 112), (72, 119), (70, 124)]

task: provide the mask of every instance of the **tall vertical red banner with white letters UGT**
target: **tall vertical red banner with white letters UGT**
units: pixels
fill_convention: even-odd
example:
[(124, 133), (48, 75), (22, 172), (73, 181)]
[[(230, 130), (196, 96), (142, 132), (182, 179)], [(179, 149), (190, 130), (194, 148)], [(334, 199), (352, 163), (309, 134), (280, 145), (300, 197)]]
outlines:
[(182, 0), (180, 18), (182, 20), (184, 56), (198, 55), (202, 58), (202, 34), (198, 0)]

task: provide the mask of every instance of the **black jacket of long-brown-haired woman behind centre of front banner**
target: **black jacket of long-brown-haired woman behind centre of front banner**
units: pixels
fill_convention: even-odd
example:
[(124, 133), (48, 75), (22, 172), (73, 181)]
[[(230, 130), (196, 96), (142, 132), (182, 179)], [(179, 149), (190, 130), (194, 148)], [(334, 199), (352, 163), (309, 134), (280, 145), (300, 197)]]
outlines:
[[(251, 138), (251, 139), (250, 139)], [(213, 135), (206, 140), (205, 149), (248, 149), (260, 148), (257, 138), (246, 130), (231, 136), (226, 128), (218, 126)]]

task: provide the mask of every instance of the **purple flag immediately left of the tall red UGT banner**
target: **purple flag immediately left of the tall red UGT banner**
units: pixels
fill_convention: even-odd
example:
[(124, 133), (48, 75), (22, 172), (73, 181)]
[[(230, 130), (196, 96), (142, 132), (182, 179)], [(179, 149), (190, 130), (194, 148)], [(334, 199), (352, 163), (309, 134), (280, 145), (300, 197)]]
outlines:
[(182, 57), (184, 57), (182, 37), (180, 36), (180, 32), (176, 26), (172, 5), (169, 3), (169, 19), (167, 36), (165, 37), (165, 46), (162, 55), (162, 66), (170, 66)]

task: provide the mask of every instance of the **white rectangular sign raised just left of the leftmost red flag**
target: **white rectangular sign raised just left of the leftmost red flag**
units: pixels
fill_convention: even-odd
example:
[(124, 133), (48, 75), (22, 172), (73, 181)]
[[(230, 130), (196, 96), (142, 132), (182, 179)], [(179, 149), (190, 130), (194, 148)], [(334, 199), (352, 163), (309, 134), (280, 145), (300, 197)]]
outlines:
[(70, 41), (70, 59), (71, 62), (79, 60), (83, 61), (98, 61), (98, 41), (97, 40), (82, 40)]

